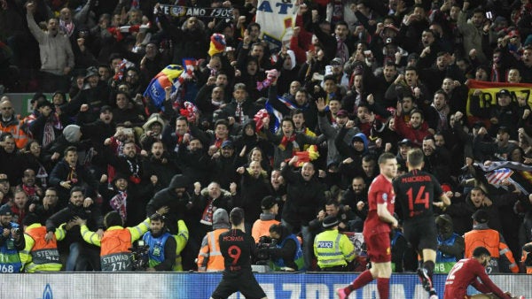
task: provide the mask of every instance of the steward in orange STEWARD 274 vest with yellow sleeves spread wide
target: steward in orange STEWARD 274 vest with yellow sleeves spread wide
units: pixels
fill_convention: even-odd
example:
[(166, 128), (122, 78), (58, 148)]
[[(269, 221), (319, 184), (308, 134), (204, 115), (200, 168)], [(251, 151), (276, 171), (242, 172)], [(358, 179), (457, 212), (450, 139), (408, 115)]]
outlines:
[(101, 239), (98, 234), (89, 230), (84, 219), (76, 217), (74, 222), (81, 227), (81, 234), (85, 242), (101, 247), (100, 265), (102, 271), (133, 271), (129, 248), (133, 242), (140, 239), (148, 231), (150, 219), (145, 219), (134, 227), (122, 227), (124, 222), (120, 214), (117, 211), (110, 211), (104, 218), (106, 231)]

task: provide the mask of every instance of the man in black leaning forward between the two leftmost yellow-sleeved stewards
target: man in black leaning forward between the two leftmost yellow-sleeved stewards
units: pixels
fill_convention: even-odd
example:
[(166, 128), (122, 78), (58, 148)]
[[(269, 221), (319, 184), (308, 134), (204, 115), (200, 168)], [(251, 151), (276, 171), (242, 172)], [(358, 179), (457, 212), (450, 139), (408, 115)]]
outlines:
[(87, 219), (87, 226), (96, 232), (100, 239), (104, 235), (104, 219), (99, 208), (90, 197), (85, 197), (83, 189), (74, 187), (70, 190), (70, 203), (65, 209), (58, 211), (46, 220), (45, 239), (51, 241), (56, 228), (66, 223), (66, 238), (64, 243), (69, 246), (69, 254), (66, 259), (65, 271), (99, 271), (99, 248), (89, 245), (82, 239), (80, 226), (74, 226), (72, 221), (75, 217)]

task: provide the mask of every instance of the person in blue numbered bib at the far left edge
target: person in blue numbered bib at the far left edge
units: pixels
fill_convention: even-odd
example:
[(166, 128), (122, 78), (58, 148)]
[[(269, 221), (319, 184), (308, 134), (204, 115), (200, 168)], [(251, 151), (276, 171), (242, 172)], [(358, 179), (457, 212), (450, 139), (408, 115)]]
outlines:
[(19, 225), (12, 222), (13, 212), (9, 204), (0, 207), (0, 272), (17, 273), (22, 268), (19, 251), (26, 242)]

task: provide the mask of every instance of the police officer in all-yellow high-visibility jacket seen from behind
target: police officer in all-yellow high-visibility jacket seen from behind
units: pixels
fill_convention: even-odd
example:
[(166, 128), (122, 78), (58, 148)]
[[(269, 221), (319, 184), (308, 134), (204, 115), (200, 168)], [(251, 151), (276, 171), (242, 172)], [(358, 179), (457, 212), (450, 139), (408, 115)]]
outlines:
[(321, 271), (348, 271), (348, 263), (356, 257), (355, 246), (347, 235), (338, 232), (338, 224), (335, 216), (325, 217), (325, 232), (314, 239), (314, 254)]

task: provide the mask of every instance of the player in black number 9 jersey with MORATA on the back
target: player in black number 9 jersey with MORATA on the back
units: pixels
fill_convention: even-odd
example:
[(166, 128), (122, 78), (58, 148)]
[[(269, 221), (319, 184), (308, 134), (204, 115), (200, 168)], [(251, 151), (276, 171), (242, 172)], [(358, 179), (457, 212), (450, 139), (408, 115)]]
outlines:
[(244, 233), (244, 210), (234, 208), (229, 219), (231, 230), (220, 234), (218, 238), (225, 271), (211, 299), (225, 299), (236, 292), (248, 299), (267, 299), (251, 271), (255, 243), (250, 234)]

